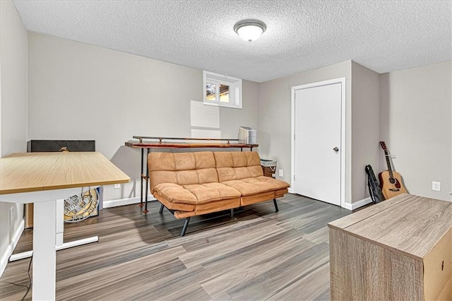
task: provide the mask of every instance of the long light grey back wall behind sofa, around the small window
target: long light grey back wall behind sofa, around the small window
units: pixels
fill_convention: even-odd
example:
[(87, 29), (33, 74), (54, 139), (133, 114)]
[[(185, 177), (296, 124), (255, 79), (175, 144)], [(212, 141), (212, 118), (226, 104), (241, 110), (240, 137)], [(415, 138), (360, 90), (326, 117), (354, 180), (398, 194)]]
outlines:
[(104, 198), (139, 196), (140, 151), (124, 146), (133, 135), (237, 138), (239, 126), (258, 128), (258, 83), (243, 81), (242, 110), (202, 105), (202, 85), (198, 69), (29, 33), (28, 137), (95, 140), (131, 177)]

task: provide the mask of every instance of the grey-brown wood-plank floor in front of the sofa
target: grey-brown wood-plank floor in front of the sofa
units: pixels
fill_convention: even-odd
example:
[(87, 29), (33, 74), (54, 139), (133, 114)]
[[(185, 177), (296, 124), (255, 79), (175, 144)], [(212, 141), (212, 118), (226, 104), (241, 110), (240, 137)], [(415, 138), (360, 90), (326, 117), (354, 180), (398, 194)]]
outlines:
[[(295, 194), (278, 206), (191, 218), (185, 237), (184, 220), (156, 201), (147, 216), (129, 205), (66, 224), (65, 242), (100, 240), (57, 252), (57, 300), (329, 300), (326, 224), (350, 211)], [(31, 248), (25, 230), (14, 253)], [(8, 263), (1, 300), (23, 297), (29, 262)]]

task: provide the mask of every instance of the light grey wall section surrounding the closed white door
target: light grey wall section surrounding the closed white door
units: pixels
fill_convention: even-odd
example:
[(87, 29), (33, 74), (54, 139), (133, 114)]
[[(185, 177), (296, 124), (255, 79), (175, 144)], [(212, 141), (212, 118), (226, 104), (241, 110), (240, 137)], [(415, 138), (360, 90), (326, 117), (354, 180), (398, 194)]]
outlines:
[[(345, 105), (347, 112), (351, 112), (351, 61), (344, 61), (332, 66), (314, 69), (292, 76), (266, 81), (259, 85), (259, 131), (261, 156), (278, 161), (278, 170), (284, 170), (284, 179), (291, 182), (291, 88), (307, 83), (316, 83), (333, 78), (345, 77)], [(347, 136), (351, 137), (351, 116), (346, 117)], [(346, 138), (348, 162), (345, 168), (346, 191), (345, 200), (352, 201), (351, 191), (351, 138)], [(278, 177), (278, 172), (277, 172)]]

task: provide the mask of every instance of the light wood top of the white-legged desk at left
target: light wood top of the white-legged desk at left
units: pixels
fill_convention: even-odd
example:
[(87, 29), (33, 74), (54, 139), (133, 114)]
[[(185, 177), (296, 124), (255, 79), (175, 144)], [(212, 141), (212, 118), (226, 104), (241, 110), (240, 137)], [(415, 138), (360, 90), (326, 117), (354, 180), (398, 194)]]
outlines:
[(0, 159), (0, 194), (126, 183), (98, 152), (13, 153)]

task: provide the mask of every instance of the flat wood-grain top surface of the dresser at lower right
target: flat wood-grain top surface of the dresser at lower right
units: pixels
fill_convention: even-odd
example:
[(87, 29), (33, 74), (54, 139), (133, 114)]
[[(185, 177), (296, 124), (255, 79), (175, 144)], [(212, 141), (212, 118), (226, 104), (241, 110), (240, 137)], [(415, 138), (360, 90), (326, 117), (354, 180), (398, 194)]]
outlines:
[(328, 227), (419, 259), (452, 228), (452, 203), (400, 194), (335, 220)]

